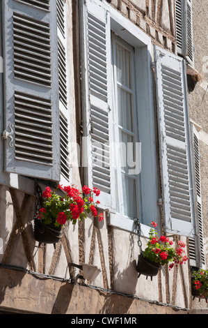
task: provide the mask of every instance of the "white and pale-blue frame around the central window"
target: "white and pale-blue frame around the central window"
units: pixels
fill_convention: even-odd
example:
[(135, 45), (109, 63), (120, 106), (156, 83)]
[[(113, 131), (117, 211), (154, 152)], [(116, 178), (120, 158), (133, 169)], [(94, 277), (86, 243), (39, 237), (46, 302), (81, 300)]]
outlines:
[[(101, 1), (80, 1), (83, 21), (85, 19), (84, 8), (86, 3), (89, 3), (90, 6), (100, 6), (107, 10), (108, 17), (110, 16), (111, 31), (134, 47), (135, 57), (139, 58), (139, 61), (136, 63), (136, 86), (138, 91), (136, 101), (140, 103), (138, 109), (138, 116), (140, 117), (140, 119), (138, 119), (138, 131), (140, 132), (142, 156), (141, 173), (139, 174), (141, 190), (138, 195), (140, 203), (138, 218), (141, 222), (142, 233), (148, 236), (150, 228), (147, 225), (150, 224), (151, 221), (157, 221), (159, 228), (161, 228), (161, 213), (158, 204), (160, 190), (157, 163), (156, 118), (154, 112), (154, 97), (152, 96), (154, 94), (154, 86), (151, 70), (151, 38), (136, 27), (134, 23), (118, 13), (118, 10), (115, 10), (111, 5)], [(83, 29), (83, 31), (85, 30)], [(83, 40), (81, 40), (81, 43), (85, 44), (85, 33), (81, 33), (81, 37), (82, 36)], [(109, 43), (109, 40), (107, 40), (107, 42)], [(83, 57), (85, 56), (86, 54), (83, 54)], [(83, 67), (83, 74), (86, 74), (85, 67)], [(88, 76), (86, 76), (85, 83), (85, 85), (83, 84), (83, 88), (88, 89)], [(86, 103), (86, 107), (88, 107), (87, 94), (83, 94), (83, 103)], [(86, 109), (83, 110), (86, 111)], [(83, 112), (83, 115), (86, 115), (86, 113)], [(111, 203), (114, 204), (114, 207), (104, 208), (109, 211), (109, 225), (122, 228), (123, 230), (134, 231), (133, 218), (123, 216), (115, 211), (115, 187), (111, 195)]]

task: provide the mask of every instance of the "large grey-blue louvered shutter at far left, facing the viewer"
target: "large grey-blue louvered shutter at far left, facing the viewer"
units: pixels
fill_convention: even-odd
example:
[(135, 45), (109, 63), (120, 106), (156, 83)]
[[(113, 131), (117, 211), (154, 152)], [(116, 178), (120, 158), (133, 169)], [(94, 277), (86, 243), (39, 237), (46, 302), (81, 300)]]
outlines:
[(58, 181), (56, 1), (2, 5), (5, 170)]

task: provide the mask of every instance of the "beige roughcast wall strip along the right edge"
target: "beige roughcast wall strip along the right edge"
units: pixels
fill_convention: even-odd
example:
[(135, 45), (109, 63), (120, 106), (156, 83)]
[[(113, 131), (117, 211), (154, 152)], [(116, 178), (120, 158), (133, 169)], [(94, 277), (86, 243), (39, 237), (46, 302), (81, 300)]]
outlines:
[[(202, 188), (202, 216), (206, 262), (208, 263), (208, 9), (206, 0), (193, 0), (193, 45), (195, 70), (201, 75), (193, 92), (189, 94), (190, 117), (198, 124), (200, 138), (200, 174)], [(200, 24), (199, 24), (200, 22)], [(205, 300), (193, 301), (195, 308), (208, 308)]]

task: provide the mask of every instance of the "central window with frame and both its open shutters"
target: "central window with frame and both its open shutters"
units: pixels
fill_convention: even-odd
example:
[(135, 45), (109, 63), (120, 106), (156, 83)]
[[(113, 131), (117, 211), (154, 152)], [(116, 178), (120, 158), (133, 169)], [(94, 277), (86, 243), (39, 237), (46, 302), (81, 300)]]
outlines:
[[(152, 52), (151, 39), (112, 6), (87, 0), (81, 9), (86, 181), (102, 191), (110, 224), (134, 230), (137, 215), (146, 234), (148, 223), (161, 224), (162, 198), (165, 231), (194, 237), (184, 59), (156, 46)], [(111, 144), (126, 149), (127, 140), (134, 149), (141, 143), (138, 175), (122, 166), (120, 149), (115, 149), (118, 165), (112, 164)]]

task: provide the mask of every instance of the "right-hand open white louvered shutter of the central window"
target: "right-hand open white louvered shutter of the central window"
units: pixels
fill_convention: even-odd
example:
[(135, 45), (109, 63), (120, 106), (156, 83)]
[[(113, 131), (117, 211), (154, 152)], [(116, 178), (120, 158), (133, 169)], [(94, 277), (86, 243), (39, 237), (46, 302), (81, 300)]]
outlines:
[(155, 49), (166, 232), (193, 236), (193, 193), (184, 61)]

